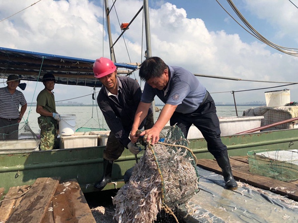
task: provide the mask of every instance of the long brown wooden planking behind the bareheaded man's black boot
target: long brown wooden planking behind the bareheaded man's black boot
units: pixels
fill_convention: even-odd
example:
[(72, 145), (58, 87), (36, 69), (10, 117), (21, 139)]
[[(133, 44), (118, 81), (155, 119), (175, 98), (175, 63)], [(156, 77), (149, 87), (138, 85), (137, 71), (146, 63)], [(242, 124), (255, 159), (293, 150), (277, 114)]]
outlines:
[[(266, 176), (255, 175), (248, 170), (243, 171), (242, 169), (247, 169), (248, 165), (240, 161), (230, 160), (230, 163), (233, 176), (236, 180), (240, 180), (241, 182), (248, 183), (258, 188), (270, 190), (273, 193), (287, 196), (290, 199), (298, 201), (298, 187), (296, 184), (283, 182)], [(198, 166), (222, 174), (222, 169), (218, 166), (216, 161), (200, 159), (198, 160)]]

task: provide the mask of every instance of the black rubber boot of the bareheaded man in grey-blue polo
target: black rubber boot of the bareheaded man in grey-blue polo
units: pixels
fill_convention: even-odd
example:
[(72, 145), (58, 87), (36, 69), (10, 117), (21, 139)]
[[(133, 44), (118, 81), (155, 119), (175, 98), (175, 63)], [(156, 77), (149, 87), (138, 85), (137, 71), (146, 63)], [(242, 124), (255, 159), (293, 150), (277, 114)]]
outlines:
[(233, 177), (232, 169), (229, 163), (227, 151), (224, 151), (223, 156), (216, 159), (218, 165), (222, 168), (225, 188), (229, 190), (237, 189), (238, 185)]

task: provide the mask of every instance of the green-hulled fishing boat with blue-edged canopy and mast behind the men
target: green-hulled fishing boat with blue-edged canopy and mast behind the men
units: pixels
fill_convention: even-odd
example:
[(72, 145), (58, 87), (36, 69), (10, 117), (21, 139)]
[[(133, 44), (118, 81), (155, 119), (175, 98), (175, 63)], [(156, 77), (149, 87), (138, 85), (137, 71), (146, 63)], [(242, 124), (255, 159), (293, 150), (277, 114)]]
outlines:
[[(148, 2), (146, 0), (144, 2), (144, 6), (138, 13), (144, 10), (145, 20), (148, 24)], [(105, 7), (108, 11), (107, 1), (105, 1)], [(122, 34), (129, 28), (130, 23), (123, 25)], [(147, 25), (147, 56), (151, 56), (149, 35), (149, 25)], [(115, 61), (111, 35), (109, 38), (111, 58)], [(93, 62), (94, 60), (90, 59), (0, 47), (1, 78), (16, 74), (22, 80), (40, 81), (40, 77), (44, 73), (51, 72), (55, 75), (57, 84), (100, 88), (102, 85), (98, 79), (94, 78), (92, 72)], [(139, 68), (138, 64), (115, 63), (115, 65), (118, 68), (124, 68), (123, 73), (126, 75)], [(237, 116), (237, 118), (239, 117)], [(246, 119), (250, 122), (252, 118), (247, 117)], [(293, 123), (296, 120), (291, 118), (287, 122)], [(274, 125), (280, 124), (275, 123)], [(263, 128), (266, 129), (268, 126), (263, 126)], [(240, 127), (240, 129), (238, 132), (226, 133), (221, 137), (230, 156), (246, 156), (249, 151), (253, 150), (298, 149), (298, 128), (260, 131), (262, 129), (255, 127), (247, 129), (246, 126), (245, 128)], [(77, 140), (77, 138), (79, 137), (74, 137), (73, 140)], [(97, 139), (95, 140), (97, 141)], [(188, 140), (190, 148), (198, 159), (213, 159), (213, 156), (208, 152), (205, 139), (199, 136), (196, 128), (190, 130)], [(23, 148), (26, 147), (26, 141), (19, 140), (19, 143), (21, 146), (23, 145)], [(38, 151), (36, 148), (24, 150), (23, 148), (0, 153), (0, 187), (3, 187), (6, 192), (12, 186), (31, 185), (37, 178), (52, 176), (59, 176), (61, 180), (76, 179), (84, 193), (96, 191), (93, 185), (103, 174), (105, 145), (97, 144), (50, 151)], [(120, 188), (124, 185), (124, 173), (135, 163), (136, 157), (125, 150), (122, 156), (115, 161), (112, 173), (113, 180), (107, 184), (104, 190)]]

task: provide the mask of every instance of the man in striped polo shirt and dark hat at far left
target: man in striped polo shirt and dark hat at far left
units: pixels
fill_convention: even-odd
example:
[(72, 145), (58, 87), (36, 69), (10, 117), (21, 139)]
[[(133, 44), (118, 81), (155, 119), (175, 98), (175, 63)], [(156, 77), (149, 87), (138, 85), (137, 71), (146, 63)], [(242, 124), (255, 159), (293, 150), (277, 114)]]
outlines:
[(27, 102), (23, 93), (16, 90), (20, 83), (16, 75), (9, 75), (6, 83), (6, 87), (0, 88), (0, 140), (16, 140)]

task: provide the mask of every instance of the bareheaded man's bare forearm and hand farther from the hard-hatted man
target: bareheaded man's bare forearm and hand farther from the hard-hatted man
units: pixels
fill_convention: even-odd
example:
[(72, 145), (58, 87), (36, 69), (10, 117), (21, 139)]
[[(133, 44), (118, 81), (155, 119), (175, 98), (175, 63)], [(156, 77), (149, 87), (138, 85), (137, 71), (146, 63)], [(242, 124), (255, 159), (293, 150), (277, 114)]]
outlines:
[(170, 120), (171, 116), (173, 115), (174, 111), (176, 110), (177, 105), (169, 105), (165, 104), (162, 108), (160, 115), (158, 116), (157, 121), (153, 125), (152, 128), (145, 130), (141, 133), (142, 135), (147, 136), (146, 141), (150, 142), (153, 145), (154, 143), (158, 142), (159, 140), (159, 133), (161, 129), (166, 125), (166, 123)]

